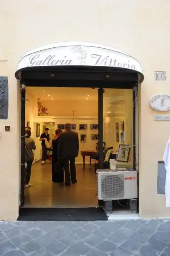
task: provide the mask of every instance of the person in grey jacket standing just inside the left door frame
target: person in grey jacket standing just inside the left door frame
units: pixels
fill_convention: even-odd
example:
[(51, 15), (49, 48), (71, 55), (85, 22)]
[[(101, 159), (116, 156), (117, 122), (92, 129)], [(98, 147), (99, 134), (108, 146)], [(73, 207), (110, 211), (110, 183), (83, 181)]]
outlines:
[(32, 150), (36, 149), (35, 141), (31, 138), (31, 129), (25, 128), (25, 160), (26, 160), (26, 188), (31, 186), (29, 183), (31, 177), (31, 167), (34, 160), (34, 153)]

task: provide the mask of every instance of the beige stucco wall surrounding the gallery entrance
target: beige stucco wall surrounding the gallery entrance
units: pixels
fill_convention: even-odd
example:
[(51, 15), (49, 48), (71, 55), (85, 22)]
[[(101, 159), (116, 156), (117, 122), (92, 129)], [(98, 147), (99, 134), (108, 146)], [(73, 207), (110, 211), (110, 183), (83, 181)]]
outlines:
[[(9, 78), (9, 119), (0, 120), (0, 219), (18, 215), (19, 94), (14, 72), (24, 52), (59, 41), (106, 44), (140, 61), (145, 79), (140, 92), (139, 213), (170, 216), (165, 197), (156, 195), (157, 161), (170, 135), (169, 122), (154, 121), (149, 106), (153, 94), (170, 94), (169, 13), (167, 0), (1, 0), (0, 76)], [(167, 71), (167, 82), (155, 82), (155, 70)]]

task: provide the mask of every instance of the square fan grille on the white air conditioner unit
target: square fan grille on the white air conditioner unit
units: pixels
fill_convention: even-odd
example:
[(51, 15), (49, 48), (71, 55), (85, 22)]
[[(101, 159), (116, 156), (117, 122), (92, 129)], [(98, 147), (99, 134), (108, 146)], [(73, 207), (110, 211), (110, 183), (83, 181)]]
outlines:
[(124, 175), (101, 175), (101, 197), (123, 198), (124, 197)]

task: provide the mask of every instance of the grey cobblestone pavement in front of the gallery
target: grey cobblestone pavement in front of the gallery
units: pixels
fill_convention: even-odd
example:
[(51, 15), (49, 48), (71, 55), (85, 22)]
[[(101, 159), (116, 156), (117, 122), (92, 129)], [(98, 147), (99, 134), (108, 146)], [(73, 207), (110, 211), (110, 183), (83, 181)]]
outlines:
[(3, 256), (170, 256), (170, 220), (0, 222)]

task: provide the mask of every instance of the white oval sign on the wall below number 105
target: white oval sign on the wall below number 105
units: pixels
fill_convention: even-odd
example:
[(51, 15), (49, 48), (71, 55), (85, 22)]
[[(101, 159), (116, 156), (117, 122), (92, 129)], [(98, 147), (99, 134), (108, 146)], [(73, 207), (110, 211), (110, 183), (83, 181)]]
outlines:
[(150, 99), (151, 108), (157, 111), (168, 111), (170, 110), (170, 96), (167, 94), (156, 94)]

